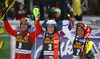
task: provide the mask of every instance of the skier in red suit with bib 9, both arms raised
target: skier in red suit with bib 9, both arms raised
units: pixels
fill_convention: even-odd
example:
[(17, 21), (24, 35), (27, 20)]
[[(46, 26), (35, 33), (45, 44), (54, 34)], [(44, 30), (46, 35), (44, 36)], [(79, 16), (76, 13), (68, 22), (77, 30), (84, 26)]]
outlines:
[[(41, 26), (37, 20), (36, 25), (36, 37), (41, 33)], [(21, 31), (13, 30), (6, 19), (4, 18), (4, 27), (6, 31), (16, 37), (16, 49), (15, 49), (15, 59), (31, 59), (31, 49), (33, 43), (35, 42), (35, 31), (30, 32), (29, 29), (32, 26), (30, 18), (21, 18), (20, 19), (20, 28)]]

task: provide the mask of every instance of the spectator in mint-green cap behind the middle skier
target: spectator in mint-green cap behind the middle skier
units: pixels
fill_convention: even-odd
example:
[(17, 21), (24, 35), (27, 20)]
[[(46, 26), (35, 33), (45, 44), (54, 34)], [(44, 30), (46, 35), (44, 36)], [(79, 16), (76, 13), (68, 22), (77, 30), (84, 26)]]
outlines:
[[(56, 8), (55, 10), (51, 11), (51, 14), (54, 15), (54, 16), (51, 17), (51, 15), (49, 14), (50, 16), (48, 15), (48, 17), (49, 17), (48, 20), (50, 20), (50, 19), (55, 20), (56, 23), (57, 23), (57, 31), (62, 30), (62, 21), (59, 19), (60, 15), (61, 15), (61, 10), (59, 8)], [(47, 20), (45, 20), (45, 22), (42, 24), (42, 26), (44, 28), (46, 27), (45, 26), (46, 22), (47, 22)]]

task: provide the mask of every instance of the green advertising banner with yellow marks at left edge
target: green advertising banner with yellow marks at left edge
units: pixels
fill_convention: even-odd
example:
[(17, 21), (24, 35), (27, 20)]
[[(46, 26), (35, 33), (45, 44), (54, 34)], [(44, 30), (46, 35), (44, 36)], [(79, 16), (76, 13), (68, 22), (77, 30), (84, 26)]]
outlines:
[(0, 35), (0, 59), (9, 59), (9, 37), (4, 27), (0, 28)]

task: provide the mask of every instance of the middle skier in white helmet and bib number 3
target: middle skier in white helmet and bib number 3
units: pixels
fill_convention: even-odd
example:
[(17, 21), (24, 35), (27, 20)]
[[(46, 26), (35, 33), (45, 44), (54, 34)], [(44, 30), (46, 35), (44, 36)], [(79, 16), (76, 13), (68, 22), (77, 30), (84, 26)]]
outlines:
[(46, 31), (42, 31), (43, 37), (43, 49), (40, 54), (39, 59), (54, 59), (54, 34), (56, 33), (59, 37), (58, 45), (58, 58), (61, 58), (60, 53), (60, 42), (63, 36), (65, 35), (62, 31), (57, 32), (57, 25), (55, 20), (48, 20), (46, 22)]

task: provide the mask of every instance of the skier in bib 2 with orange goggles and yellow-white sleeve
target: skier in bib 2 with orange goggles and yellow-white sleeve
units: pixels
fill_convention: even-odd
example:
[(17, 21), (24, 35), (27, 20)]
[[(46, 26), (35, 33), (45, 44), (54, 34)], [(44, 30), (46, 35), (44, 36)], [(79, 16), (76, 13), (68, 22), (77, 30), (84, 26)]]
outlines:
[[(91, 52), (93, 54), (99, 53), (99, 50), (97, 49), (96, 45), (92, 41), (88, 41), (86, 51), (85, 53), (83, 53), (87, 42), (86, 39), (83, 47), (82, 44), (84, 42), (86, 27), (87, 26), (84, 23), (77, 23), (76, 25), (76, 36), (73, 42), (73, 59), (84, 59), (84, 58), (92, 59), (93, 55), (91, 55)], [(83, 47), (83, 51), (82, 51), (82, 47)], [(81, 51), (82, 51), (82, 55), (80, 56)]]

